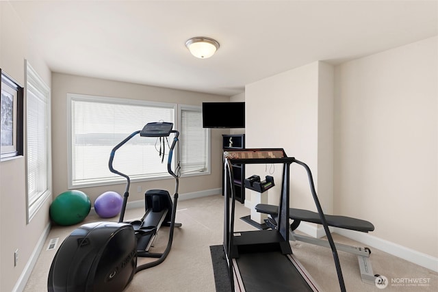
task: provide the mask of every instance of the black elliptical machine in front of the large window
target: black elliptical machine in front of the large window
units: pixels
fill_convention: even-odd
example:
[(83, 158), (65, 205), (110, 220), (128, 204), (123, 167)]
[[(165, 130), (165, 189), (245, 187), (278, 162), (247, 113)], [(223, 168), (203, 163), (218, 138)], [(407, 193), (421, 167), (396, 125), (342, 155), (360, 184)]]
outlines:
[[(174, 228), (181, 226), (175, 223), (179, 174), (171, 168), (172, 154), (179, 141), (179, 132), (172, 130), (172, 127), (171, 122), (148, 123), (141, 131), (133, 132), (112, 149), (108, 163), (110, 171), (127, 179), (119, 220), (117, 223), (83, 224), (73, 230), (53, 258), (47, 280), (49, 292), (123, 291), (138, 271), (155, 267), (166, 259), (172, 247)], [(171, 133), (174, 134), (168, 153), (167, 170), (175, 178), (175, 194), (172, 202), (166, 190), (146, 191), (144, 216), (140, 220), (124, 222), (131, 180), (127, 174), (115, 170), (112, 163), (116, 150), (139, 133), (141, 137), (157, 137), (163, 141)], [(164, 149), (160, 155), (164, 156)], [(176, 172), (179, 172), (179, 163)], [(162, 253), (149, 252), (162, 224), (170, 226), (166, 249)], [(137, 265), (138, 256), (157, 260)]]

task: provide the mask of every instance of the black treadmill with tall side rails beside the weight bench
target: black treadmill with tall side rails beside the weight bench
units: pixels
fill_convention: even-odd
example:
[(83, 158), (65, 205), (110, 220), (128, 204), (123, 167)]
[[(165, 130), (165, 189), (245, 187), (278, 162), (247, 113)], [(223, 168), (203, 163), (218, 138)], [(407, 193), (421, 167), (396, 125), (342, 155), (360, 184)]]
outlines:
[[(283, 165), (277, 228), (235, 232), (235, 190), (231, 165), (266, 163)], [(251, 148), (224, 152), (223, 245), (232, 291), (322, 291), (292, 254), (289, 244), (289, 174), (292, 163), (298, 163), (307, 170), (313, 199), (332, 248), (339, 286), (341, 291), (346, 291), (335, 244), (316, 196), (311, 172), (305, 163), (294, 157), (287, 157), (283, 148)]]

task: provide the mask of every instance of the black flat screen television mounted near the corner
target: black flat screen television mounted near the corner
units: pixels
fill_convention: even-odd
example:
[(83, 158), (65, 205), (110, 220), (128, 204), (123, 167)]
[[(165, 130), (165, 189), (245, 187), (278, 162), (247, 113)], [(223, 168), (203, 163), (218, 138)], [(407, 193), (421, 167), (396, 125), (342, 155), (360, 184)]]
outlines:
[(203, 128), (244, 128), (245, 103), (203, 103)]

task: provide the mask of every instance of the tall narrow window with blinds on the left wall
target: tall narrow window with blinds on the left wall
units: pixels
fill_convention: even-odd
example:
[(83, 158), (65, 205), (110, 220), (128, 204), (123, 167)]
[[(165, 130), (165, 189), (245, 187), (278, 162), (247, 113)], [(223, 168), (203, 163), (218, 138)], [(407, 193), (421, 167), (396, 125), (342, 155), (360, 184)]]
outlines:
[(50, 88), (26, 62), (27, 222), (51, 196)]

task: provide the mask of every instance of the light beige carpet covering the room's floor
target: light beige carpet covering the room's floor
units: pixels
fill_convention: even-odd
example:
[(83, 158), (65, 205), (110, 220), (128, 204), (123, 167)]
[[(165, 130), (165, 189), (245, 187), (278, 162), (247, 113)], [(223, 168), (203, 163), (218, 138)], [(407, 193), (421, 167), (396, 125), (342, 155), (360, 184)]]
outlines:
[[(157, 267), (138, 272), (125, 291), (216, 291), (213, 267), (211, 265), (210, 245), (222, 244), (223, 236), (223, 197), (209, 196), (178, 202), (177, 222), (183, 226), (175, 229), (172, 250), (166, 261)], [(144, 209), (128, 209), (126, 220), (142, 217)], [(249, 215), (249, 209), (236, 204), (236, 218)], [(106, 221), (117, 221), (118, 217)], [(53, 226), (49, 238), (38, 258), (36, 266), (26, 284), (25, 292), (47, 291), (47, 276), (55, 250), (46, 250), (49, 239), (59, 237), (59, 245), (77, 226), (87, 222), (105, 221), (97, 215), (88, 215), (84, 222), (76, 226)], [(254, 230), (243, 220), (235, 220), (237, 230)], [(168, 239), (168, 228), (159, 230), (153, 250), (163, 250)], [(345, 237), (334, 234), (339, 243), (363, 246)], [(308, 243), (291, 242), (292, 251), (305, 266), (311, 276), (324, 291), (339, 291), (333, 256), (329, 248)], [(361, 281), (357, 256), (338, 252), (347, 291), (438, 291), (438, 274), (396, 256), (391, 256), (370, 247), (374, 273), (388, 278), (389, 285), (378, 289)], [(151, 251), (153, 251), (151, 249)], [(140, 261), (145, 261), (140, 259)], [(391, 284), (391, 279), (426, 279), (426, 284)], [(406, 281), (406, 280), (404, 280)]]

